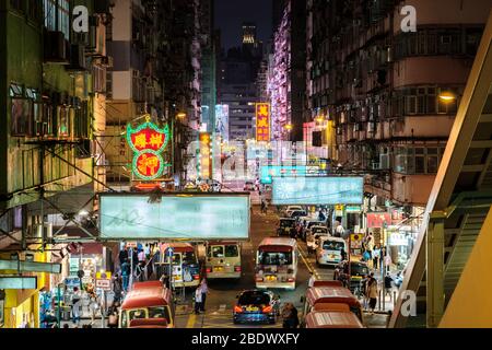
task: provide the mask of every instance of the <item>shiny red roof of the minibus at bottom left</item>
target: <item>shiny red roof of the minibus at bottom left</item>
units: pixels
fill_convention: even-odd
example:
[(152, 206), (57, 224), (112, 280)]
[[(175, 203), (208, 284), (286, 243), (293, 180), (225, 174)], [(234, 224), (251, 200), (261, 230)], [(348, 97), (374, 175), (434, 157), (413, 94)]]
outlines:
[(161, 282), (134, 283), (133, 289), (127, 294), (121, 305), (121, 310), (132, 310), (149, 306), (165, 306), (171, 303), (171, 291), (164, 288)]

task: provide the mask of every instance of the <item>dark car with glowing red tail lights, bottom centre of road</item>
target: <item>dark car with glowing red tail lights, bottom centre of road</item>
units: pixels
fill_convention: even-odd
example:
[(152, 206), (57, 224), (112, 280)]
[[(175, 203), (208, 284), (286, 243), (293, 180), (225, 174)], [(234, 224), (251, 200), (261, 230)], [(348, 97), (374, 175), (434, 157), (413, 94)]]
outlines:
[(248, 290), (237, 296), (233, 322), (276, 324), (280, 315), (279, 296), (270, 291)]

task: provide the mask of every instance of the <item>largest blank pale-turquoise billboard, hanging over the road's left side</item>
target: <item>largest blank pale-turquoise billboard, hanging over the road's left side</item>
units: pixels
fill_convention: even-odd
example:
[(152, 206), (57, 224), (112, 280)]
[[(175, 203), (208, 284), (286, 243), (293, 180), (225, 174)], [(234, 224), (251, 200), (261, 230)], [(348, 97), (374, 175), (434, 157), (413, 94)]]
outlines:
[(248, 195), (152, 196), (101, 195), (101, 238), (201, 241), (247, 240), (249, 236)]

